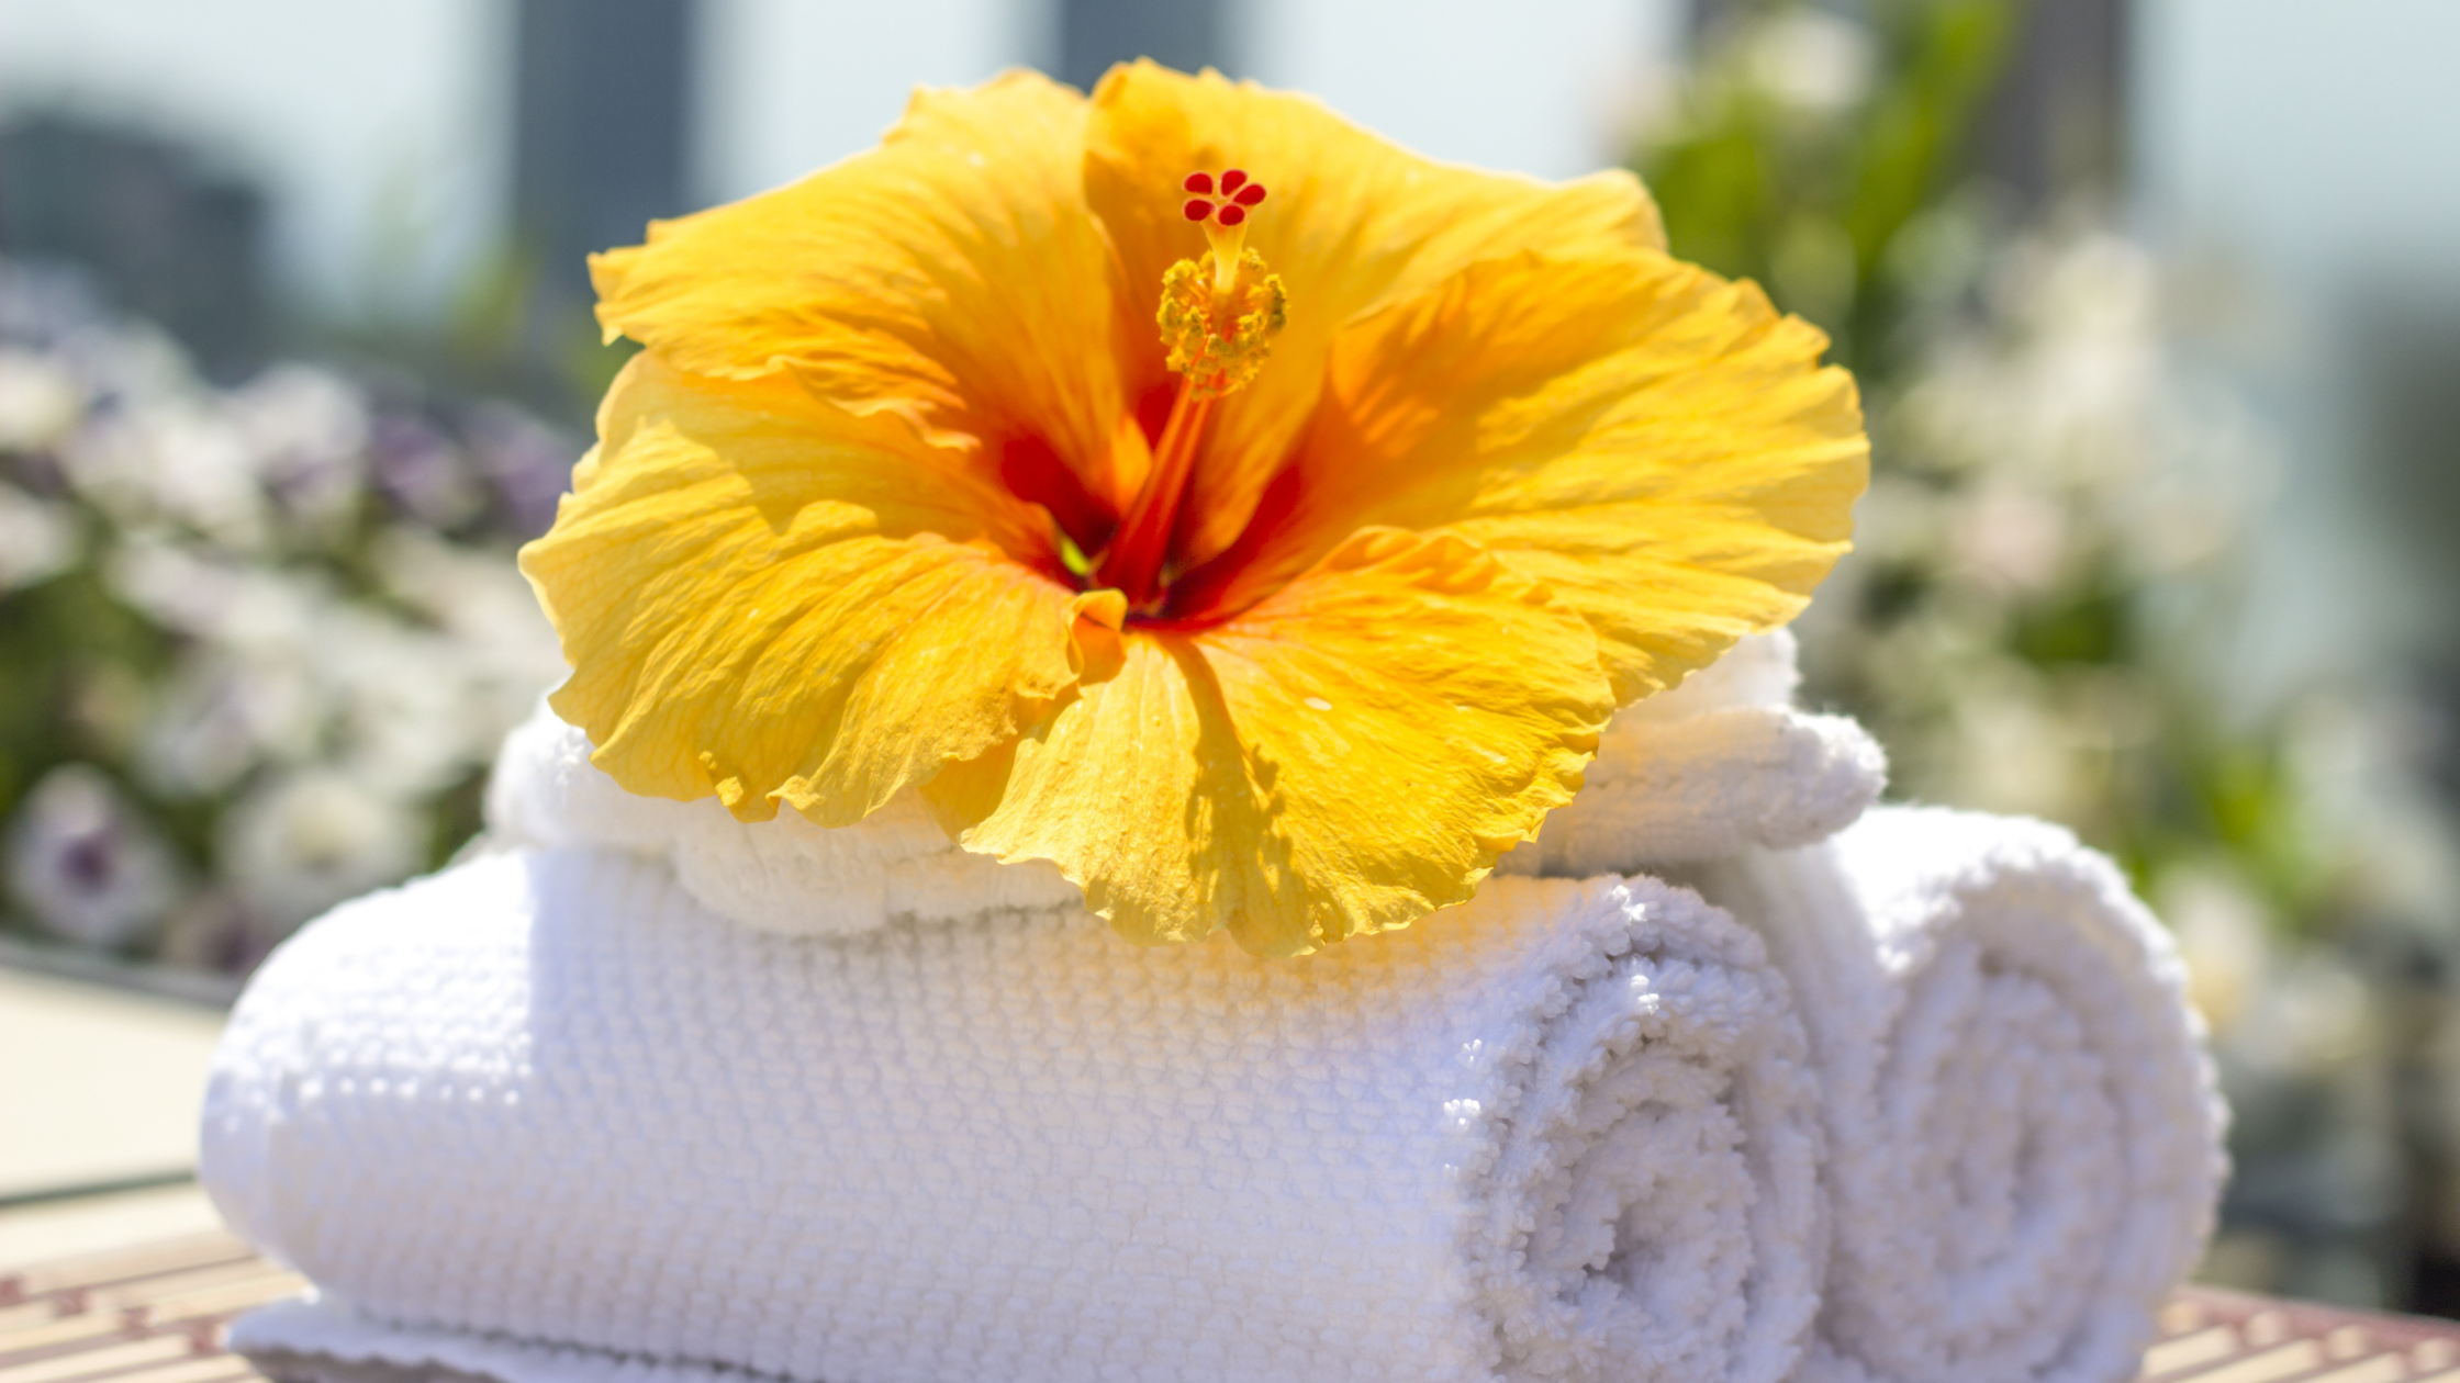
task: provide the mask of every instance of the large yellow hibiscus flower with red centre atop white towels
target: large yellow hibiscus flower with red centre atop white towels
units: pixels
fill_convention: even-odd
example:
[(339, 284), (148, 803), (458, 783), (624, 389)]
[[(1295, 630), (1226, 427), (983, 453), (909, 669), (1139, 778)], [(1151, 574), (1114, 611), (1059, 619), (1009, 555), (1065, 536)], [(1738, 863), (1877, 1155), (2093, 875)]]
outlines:
[(1865, 480), (1825, 337), (1636, 180), (1215, 74), (925, 91), (593, 273), (645, 349), (522, 568), (598, 765), (824, 827), (913, 787), (1146, 943), (1466, 898)]

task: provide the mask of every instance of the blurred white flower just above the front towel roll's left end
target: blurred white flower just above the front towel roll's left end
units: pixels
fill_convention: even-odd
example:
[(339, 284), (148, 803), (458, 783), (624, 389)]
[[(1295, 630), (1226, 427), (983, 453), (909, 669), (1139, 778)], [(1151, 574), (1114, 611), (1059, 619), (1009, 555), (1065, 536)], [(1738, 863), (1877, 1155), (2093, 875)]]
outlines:
[(426, 856), (426, 827), (401, 800), (344, 773), (273, 778), (224, 815), (221, 871), (273, 933), (394, 883)]

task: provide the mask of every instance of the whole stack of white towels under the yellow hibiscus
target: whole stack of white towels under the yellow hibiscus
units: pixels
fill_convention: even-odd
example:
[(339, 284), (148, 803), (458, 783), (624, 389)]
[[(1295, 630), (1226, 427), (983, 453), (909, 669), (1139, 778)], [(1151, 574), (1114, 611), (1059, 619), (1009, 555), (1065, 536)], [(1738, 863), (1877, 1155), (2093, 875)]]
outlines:
[(1139, 950), (918, 802), (620, 792), (544, 716), (492, 849), (248, 987), (204, 1179), (325, 1383), (2118, 1383), (2221, 1107), (2059, 829), (1872, 807), (1786, 635), (1624, 711), (1478, 896)]

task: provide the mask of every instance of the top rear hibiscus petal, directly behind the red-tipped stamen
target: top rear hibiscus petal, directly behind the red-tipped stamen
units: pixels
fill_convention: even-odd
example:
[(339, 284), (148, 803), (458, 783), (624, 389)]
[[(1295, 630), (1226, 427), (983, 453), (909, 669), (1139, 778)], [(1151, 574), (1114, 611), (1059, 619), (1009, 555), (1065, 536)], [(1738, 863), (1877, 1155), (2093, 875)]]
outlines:
[(1245, 527), (1306, 423), (1323, 354), (1351, 317), (1523, 249), (1569, 256), (1665, 246), (1656, 204), (1626, 172), (1550, 185), (1451, 167), (1309, 96), (1151, 62), (1114, 66), (1092, 94), (1085, 197), (1119, 246), (1114, 300), (1132, 389), (1166, 379), (1154, 335), (1161, 273), (1205, 249), (1178, 212), (1178, 180), (1225, 165), (1272, 192), (1247, 221), (1247, 246), (1289, 288), (1289, 327), (1264, 374), (1215, 411), (1210, 453), (1188, 495), (1193, 527), (1181, 539), (1196, 561)]

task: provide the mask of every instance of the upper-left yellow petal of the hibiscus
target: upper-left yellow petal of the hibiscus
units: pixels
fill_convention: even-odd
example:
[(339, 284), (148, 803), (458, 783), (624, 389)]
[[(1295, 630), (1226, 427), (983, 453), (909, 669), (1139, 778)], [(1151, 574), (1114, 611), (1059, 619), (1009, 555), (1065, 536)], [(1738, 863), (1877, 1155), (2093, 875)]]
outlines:
[(1038, 74), (918, 91), (881, 148), (595, 256), (598, 320), (691, 374), (790, 369), (942, 445), (1041, 436), (1100, 477), (1122, 401), (1082, 145), (1085, 98)]

